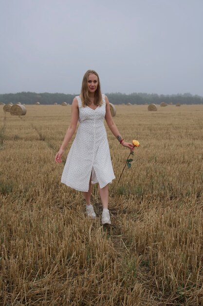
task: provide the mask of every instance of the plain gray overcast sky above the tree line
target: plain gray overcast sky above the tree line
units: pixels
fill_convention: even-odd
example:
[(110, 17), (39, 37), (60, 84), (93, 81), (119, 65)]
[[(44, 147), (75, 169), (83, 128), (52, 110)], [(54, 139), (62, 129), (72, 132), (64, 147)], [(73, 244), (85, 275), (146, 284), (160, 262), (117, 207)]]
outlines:
[(0, 93), (203, 96), (203, 0), (0, 0)]

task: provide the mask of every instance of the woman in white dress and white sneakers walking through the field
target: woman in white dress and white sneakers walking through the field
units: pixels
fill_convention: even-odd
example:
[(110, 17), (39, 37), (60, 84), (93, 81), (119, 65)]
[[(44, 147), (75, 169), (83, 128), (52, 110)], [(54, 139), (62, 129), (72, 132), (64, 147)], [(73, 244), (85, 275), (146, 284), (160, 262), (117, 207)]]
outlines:
[(68, 154), (61, 182), (83, 192), (86, 201), (86, 214), (92, 219), (96, 218), (91, 204), (92, 184), (98, 182), (103, 205), (102, 224), (111, 224), (108, 210), (108, 184), (115, 176), (104, 119), (120, 144), (133, 150), (133, 145), (125, 142), (112, 120), (109, 100), (107, 96), (101, 94), (98, 74), (94, 70), (88, 70), (83, 77), (81, 94), (73, 100), (71, 123), (60, 150), (55, 155), (55, 161), (62, 162), (61, 156), (70, 142), (79, 120), (80, 125)]

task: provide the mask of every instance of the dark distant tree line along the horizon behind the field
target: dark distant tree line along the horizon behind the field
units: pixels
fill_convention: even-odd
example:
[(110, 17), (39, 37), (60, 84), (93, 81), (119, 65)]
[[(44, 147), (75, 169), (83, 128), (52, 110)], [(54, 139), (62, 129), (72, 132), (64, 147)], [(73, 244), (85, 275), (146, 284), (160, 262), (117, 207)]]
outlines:
[[(68, 104), (72, 104), (72, 101), (78, 94), (65, 94), (65, 93), (36, 93), (36, 92), (18, 92), (18, 93), (5, 93), (0, 94), (0, 102), (8, 104), (8, 103), (18, 103), (21, 104), (35, 104), (39, 102), (40, 104), (61, 104), (62, 102), (66, 102)], [(109, 98), (109, 101), (112, 104), (160, 104), (161, 102), (165, 102), (167, 104), (172, 103), (180, 103), (180, 104), (202, 104), (203, 97), (199, 95), (192, 95), (190, 93), (184, 94), (173, 94), (173, 95), (163, 95), (156, 93), (143, 93), (143, 92), (133, 92), (130, 94), (125, 93), (106, 93)]]

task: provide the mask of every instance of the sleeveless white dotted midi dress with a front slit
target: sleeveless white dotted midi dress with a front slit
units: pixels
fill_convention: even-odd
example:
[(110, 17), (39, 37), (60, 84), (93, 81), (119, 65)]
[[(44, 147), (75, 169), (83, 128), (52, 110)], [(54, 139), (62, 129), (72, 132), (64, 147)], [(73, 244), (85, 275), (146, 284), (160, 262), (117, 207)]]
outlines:
[(104, 126), (105, 95), (102, 94), (102, 106), (96, 109), (82, 107), (80, 97), (76, 98), (80, 124), (67, 156), (61, 182), (78, 191), (87, 192), (91, 173), (92, 184), (99, 183), (100, 188), (111, 183), (115, 175)]

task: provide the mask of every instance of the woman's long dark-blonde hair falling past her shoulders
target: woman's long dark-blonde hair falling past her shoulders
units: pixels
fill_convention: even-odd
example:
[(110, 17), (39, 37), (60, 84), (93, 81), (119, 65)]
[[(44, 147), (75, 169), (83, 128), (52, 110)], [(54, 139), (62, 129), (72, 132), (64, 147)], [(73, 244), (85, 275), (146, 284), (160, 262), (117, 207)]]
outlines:
[(94, 104), (97, 106), (102, 105), (102, 95), (101, 95), (101, 86), (100, 86), (100, 80), (99, 80), (99, 75), (96, 71), (94, 70), (88, 70), (85, 72), (83, 80), (82, 80), (82, 88), (81, 88), (81, 101), (82, 101), (82, 106), (88, 106), (90, 102), (90, 97), (89, 97), (89, 91), (88, 91), (88, 77), (90, 74), (95, 74), (98, 78), (98, 86), (96, 88), (96, 91), (94, 92)]

